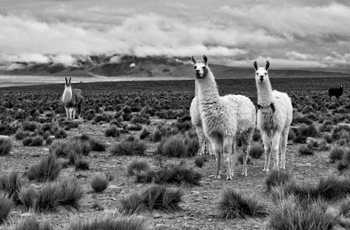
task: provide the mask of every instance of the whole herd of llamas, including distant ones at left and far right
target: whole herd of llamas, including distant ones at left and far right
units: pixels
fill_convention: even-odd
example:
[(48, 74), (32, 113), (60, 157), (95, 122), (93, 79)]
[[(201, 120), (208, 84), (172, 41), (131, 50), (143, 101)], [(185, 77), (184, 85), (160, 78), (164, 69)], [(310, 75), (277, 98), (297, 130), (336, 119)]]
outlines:
[[(269, 171), (271, 154), (274, 159), (274, 170), (285, 169), (293, 106), (288, 94), (272, 90), (268, 75), (269, 62), (266, 62), (265, 67), (258, 67), (258, 63), (254, 62), (258, 89), (258, 105), (255, 108), (247, 96), (235, 94), (220, 96), (207, 57), (204, 55), (203, 61), (198, 61), (195, 57), (191, 59), (195, 69), (195, 98), (190, 105), (190, 117), (200, 142), (198, 154), (209, 153), (216, 156), (215, 178), (221, 178), (221, 158), (223, 158), (226, 179), (233, 179), (238, 137), (241, 138), (243, 152), (241, 175), (247, 175), (248, 152), (255, 125), (262, 133), (265, 149), (263, 171)], [(71, 78), (65, 80), (62, 103), (66, 117), (73, 120), (78, 115), (80, 119), (83, 94), (80, 89), (72, 89)], [(339, 92), (335, 89), (330, 89), (329, 94), (339, 97)], [(279, 154), (281, 154), (280, 166)]]

